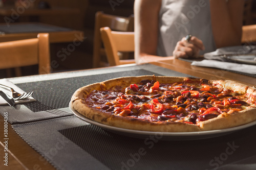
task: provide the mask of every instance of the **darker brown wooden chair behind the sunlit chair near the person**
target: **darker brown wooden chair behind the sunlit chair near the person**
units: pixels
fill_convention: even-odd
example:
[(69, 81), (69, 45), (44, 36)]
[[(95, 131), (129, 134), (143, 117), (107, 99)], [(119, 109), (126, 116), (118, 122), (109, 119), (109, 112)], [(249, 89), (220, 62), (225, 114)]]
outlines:
[[(101, 57), (105, 56), (105, 50), (102, 45), (100, 36), (100, 28), (109, 27), (113, 31), (132, 32), (134, 30), (134, 16), (121, 17), (115, 15), (104, 14), (99, 11), (95, 15), (94, 27), (94, 47), (93, 47), (93, 67), (108, 66), (107, 63), (102, 62)], [(127, 54), (126, 54), (127, 55)], [(102, 57), (102, 58), (103, 58)], [(123, 58), (127, 58), (123, 56)]]

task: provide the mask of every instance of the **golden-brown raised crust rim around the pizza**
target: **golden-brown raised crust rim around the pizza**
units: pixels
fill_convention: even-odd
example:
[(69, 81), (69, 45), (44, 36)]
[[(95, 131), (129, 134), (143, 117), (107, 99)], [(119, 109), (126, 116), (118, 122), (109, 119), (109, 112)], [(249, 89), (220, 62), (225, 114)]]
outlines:
[[(101, 83), (84, 86), (78, 89), (71, 98), (71, 107), (78, 111), (80, 114), (86, 116), (87, 118), (95, 120), (96, 122), (102, 123), (104, 125), (124, 129), (153, 132), (196, 132), (226, 129), (247, 124), (256, 119), (256, 108), (250, 108), (240, 112), (233, 112), (225, 116), (218, 116), (204, 122), (199, 122), (198, 125), (180, 122), (151, 122), (150, 120), (146, 119), (123, 117), (108, 112), (101, 112), (98, 109), (90, 107), (85, 102), (87, 95), (90, 94), (93, 90), (113, 89), (116, 86), (130, 86), (130, 84), (138, 83), (141, 80), (147, 79), (159, 81), (160, 83), (174, 83), (182, 82), (187, 78), (140, 76), (111, 79)], [(239, 94), (245, 94), (246, 92), (253, 95), (256, 94), (255, 89), (241, 83), (229, 80), (214, 80), (210, 82), (213, 84), (218, 84), (223, 88), (233, 90), (234, 92), (237, 92)]]

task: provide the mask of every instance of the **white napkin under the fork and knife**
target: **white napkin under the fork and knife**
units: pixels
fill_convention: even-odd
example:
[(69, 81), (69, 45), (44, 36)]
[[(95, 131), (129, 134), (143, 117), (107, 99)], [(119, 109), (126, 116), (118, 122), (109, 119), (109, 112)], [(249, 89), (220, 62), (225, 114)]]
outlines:
[[(18, 88), (16, 85), (14, 85), (12, 82), (8, 81), (7, 79), (0, 79), (0, 84), (6, 85), (8, 87), (12, 87), (15, 91), (17, 91), (19, 93), (24, 92), (22, 89)], [(11, 90), (8, 90), (8, 89), (2, 88), (2, 87), (0, 87), (0, 90), (5, 92), (6, 94), (12, 96)], [(32, 98), (32, 96), (30, 96), (27, 99), (22, 99), (22, 100), (15, 101), (15, 104), (17, 104), (17, 103), (27, 103), (27, 102), (33, 102), (33, 101), (36, 101), (36, 100), (34, 98)], [(0, 105), (8, 105), (7, 102), (2, 98), (2, 96), (0, 96)]]

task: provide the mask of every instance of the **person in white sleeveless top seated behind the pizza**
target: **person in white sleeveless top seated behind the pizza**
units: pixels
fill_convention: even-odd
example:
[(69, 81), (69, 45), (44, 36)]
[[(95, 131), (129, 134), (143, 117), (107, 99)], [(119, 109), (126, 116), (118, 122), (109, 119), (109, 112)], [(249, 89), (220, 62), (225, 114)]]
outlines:
[(136, 63), (240, 45), (243, 6), (244, 0), (135, 0)]

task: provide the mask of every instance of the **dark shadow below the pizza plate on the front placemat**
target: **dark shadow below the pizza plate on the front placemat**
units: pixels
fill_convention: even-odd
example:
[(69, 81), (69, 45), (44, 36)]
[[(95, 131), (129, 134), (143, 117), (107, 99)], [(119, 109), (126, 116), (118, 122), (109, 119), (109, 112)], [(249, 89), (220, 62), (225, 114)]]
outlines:
[(225, 161), (222, 156), (219, 166), (241, 160), (245, 153), (253, 155), (256, 152), (255, 147), (251, 148), (256, 138), (252, 142), (248, 129), (244, 133), (191, 141), (162, 141), (158, 135), (131, 138), (94, 125), (59, 132), (110, 169), (205, 169), (216, 167), (213, 163), (217, 160), (209, 162), (227, 150), (232, 154), (226, 154)]

